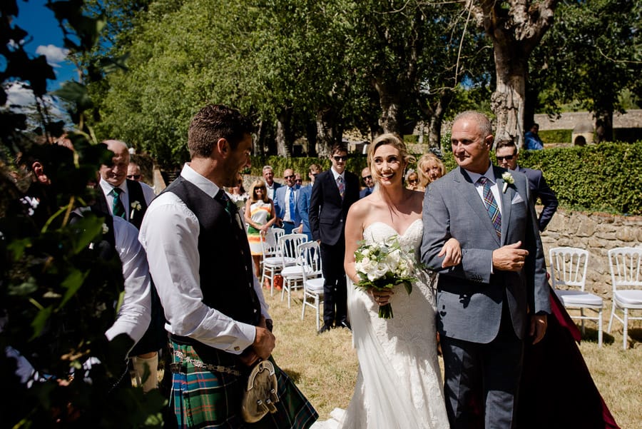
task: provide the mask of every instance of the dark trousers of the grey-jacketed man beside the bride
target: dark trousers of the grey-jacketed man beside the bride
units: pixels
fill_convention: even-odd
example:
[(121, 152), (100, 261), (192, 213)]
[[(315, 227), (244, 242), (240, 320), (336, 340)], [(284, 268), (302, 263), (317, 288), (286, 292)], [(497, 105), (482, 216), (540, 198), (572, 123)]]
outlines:
[(524, 342), (515, 335), (507, 308), (504, 301), (499, 333), (490, 343), (441, 335), (444, 395), (451, 429), (516, 428)]

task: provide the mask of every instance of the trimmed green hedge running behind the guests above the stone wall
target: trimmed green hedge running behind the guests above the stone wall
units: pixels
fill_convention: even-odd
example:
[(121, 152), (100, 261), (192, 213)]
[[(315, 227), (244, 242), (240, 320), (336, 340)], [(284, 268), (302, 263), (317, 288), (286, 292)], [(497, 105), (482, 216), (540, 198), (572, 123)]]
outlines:
[[(327, 158), (255, 156), (250, 174), (261, 176), (261, 169), (267, 164), (274, 168), (279, 181), (282, 181), (285, 168), (298, 171), (307, 181), (307, 168), (311, 163), (320, 164), (324, 170), (330, 168)], [(457, 167), (450, 152), (444, 152), (444, 164), (448, 171)], [(519, 165), (544, 171), (546, 182), (555, 191), (560, 206), (642, 215), (642, 141), (521, 151)], [(355, 155), (348, 158), (346, 168), (360, 175), (365, 166), (365, 155)]]

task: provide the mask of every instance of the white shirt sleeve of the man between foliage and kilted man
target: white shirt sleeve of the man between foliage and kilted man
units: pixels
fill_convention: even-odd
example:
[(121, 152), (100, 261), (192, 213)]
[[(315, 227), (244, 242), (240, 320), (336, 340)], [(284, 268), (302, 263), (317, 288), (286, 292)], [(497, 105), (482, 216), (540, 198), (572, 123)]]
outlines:
[(125, 296), (118, 318), (105, 335), (112, 340), (120, 333), (138, 343), (151, 321), (151, 283), (145, 251), (138, 242), (138, 229), (123, 218), (113, 216), (116, 251), (123, 265)]

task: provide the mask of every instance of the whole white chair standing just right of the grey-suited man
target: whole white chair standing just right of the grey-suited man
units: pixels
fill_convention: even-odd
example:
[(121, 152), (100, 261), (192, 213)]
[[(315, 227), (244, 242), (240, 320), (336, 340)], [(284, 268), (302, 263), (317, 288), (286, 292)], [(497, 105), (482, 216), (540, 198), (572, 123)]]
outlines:
[[(553, 289), (566, 308), (576, 308), (580, 316), (571, 316), (581, 320), (584, 335), (584, 321), (598, 323), (598, 347), (602, 346), (602, 309), (601, 297), (586, 291), (586, 268), (588, 268), (588, 251), (576, 247), (556, 247), (549, 250), (549, 267)], [(584, 314), (584, 310), (597, 313), (597, 316)]]

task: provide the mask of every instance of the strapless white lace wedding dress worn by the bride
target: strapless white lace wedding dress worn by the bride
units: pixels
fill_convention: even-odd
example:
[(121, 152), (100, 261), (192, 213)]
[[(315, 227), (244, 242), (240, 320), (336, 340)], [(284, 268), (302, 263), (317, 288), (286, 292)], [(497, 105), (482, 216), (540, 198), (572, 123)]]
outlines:
[[(397, 234), (392, 226), (375, 222), (363, 233), (366, 243), (380, 243)], [(417, 219), (403, 235), (402, 246), (419, 256), (423, 223)], [(371, 295), (348, 283), (348, 313), (359, 373), (344, 415), (317, 422), (312, 428), (441, 429), (449, 428), (442, 376), (437, 361), (435, 296), (432, 279), (423, 270), (408, 295), (396, 286), (390, 301), (394, 317), (379, 318)], [(341, 421), (337, 425), (337, 420)]]

